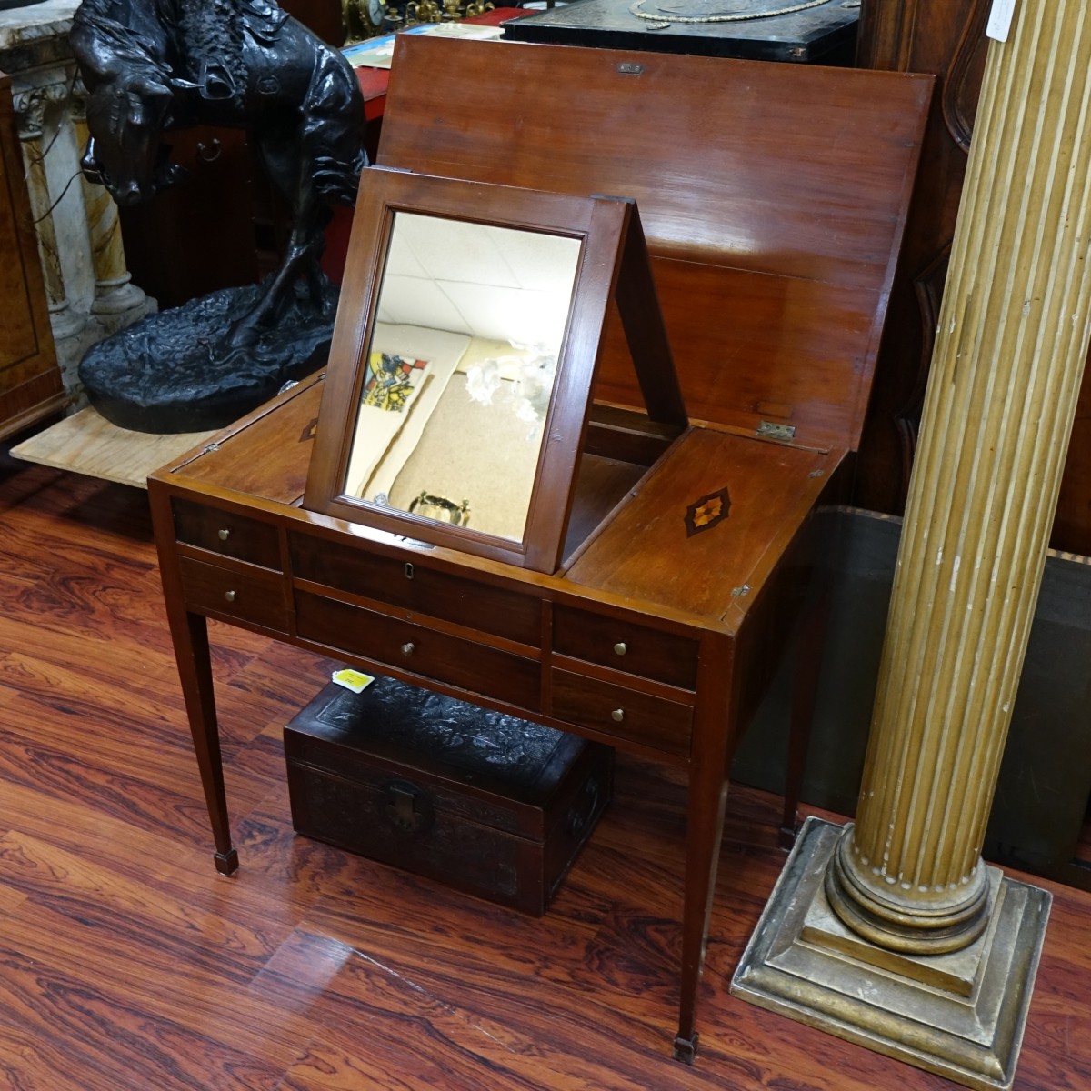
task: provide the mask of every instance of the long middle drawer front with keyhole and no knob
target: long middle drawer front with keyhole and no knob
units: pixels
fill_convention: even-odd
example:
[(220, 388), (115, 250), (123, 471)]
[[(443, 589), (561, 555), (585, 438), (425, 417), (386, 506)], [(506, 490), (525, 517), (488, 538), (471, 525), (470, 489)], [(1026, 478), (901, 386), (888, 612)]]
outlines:
[(439, 618), (537, 648), (541, 600), (365, 549), (291, 535), (291, 571), (335, 590)]

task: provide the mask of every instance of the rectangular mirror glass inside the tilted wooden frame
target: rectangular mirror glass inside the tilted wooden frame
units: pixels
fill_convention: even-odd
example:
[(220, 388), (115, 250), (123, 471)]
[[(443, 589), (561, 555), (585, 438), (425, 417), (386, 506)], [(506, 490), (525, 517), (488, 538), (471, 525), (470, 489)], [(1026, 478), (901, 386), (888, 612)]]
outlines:
[(580, 251), (394, 212), (346, 496), (523, 541)]

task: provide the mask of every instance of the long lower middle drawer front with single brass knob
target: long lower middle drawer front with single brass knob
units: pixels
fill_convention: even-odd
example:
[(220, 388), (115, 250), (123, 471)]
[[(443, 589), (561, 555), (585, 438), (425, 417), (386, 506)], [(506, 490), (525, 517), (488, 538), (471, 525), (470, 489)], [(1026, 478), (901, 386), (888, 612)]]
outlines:
[(308, 591), (296, 592), (296, 632), (301, 639), (446, 682), (469, 693), (531, 711), (538, 708), (541, 671), (536, 659), (513, 656)]

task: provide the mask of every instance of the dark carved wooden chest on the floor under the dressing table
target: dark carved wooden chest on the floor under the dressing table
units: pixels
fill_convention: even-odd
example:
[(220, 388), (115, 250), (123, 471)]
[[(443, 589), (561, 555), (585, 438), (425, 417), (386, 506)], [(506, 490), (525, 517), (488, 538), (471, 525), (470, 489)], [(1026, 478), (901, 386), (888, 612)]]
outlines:
[(296, 830), (541, 915), (610, 799), (613, 750), (377, 678), (285, 728)]

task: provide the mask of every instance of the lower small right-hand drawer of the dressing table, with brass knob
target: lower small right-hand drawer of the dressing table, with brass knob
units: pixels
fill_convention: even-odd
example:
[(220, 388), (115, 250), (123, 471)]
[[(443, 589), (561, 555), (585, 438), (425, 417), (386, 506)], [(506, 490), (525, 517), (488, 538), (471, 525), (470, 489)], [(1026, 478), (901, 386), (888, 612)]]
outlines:
[(555, 719), (668, 754), (690, 753), (693, 709), (688, 705), (570, 671), (552, 672), (552, 691), (548, 711)]

